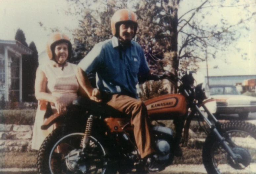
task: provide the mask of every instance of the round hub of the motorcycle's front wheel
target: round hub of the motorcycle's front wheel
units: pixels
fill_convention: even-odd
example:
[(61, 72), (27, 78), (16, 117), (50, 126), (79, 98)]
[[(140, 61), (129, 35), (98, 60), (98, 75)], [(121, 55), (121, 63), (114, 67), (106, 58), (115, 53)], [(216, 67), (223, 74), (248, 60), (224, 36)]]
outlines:
[(228, 155), (228, 163), (235, 169), (244, 169), (251, 163), (251, 155), (247, 149), (240, 148), (240, 147), (235, 147), (232, 149), (232, 151), (238, 155), (238, 162), (235, 162), (230, 155)]

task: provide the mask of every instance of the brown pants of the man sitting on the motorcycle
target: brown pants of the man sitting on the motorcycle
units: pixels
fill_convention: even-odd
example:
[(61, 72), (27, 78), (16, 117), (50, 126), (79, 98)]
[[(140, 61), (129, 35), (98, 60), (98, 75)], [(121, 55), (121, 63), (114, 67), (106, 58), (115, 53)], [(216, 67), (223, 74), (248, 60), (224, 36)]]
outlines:
[(107, 105), (131, 117), (131, 125), (141, 158), (155, 152), (145, 104), (127, 95), (113, 94)]

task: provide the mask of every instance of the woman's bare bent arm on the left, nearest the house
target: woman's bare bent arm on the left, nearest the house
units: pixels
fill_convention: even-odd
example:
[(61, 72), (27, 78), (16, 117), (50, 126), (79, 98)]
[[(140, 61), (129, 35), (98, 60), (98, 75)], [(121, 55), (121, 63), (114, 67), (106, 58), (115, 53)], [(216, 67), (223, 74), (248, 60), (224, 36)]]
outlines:
[(59, 101), (59, 99), (52, 94), (46, 92), (46, 85), (47, 77), (45, 76), (45, 73), (40, 68), (37, 68), (35, 80), (36, 99), (54, 103), (59, 114), (66, 111), (66, 106), (63, 102)]

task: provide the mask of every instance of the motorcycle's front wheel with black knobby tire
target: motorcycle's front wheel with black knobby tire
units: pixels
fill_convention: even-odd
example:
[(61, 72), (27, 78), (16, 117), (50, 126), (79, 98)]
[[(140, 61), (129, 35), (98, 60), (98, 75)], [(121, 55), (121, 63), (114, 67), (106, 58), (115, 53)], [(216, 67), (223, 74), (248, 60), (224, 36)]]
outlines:
[[(205, 140), (202, 159), (204, 167), (209, 174), (234, 174), (234, 173), (256, 173), (256, 126), (249, 122), (232, 121), (222, 124), (225, 132), (236, 144), (233, 148), (239, 155), (244, 155), (243, 160), (250, 161), (249, 165), (238, 167), (231, 160), (228, 153), (216, 140), (213, 133)], [(248, 153), (250, 155), (248, 155)], [(246, 156), (246, 157), (245, 157)], [(251, 159), (248, 157), (250, 156)]]

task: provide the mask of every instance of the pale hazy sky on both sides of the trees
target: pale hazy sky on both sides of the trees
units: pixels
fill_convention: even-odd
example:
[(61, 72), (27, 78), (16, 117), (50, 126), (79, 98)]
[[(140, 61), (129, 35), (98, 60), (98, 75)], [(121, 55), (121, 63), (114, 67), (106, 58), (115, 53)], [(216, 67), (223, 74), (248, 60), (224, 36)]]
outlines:
[[(185, 3), (187, 1), (181, 1), (180, 5), (183, 8), (179, 9), (180, 14), (191, 8), (190, 5), (187, 5), (188, 9), (184, 8)], [(49, 30), (44, 30), (44, 27), (58, 27), (72, 40), (72, 33), (65, 30), (65, 27), (69, 29), (76, 28), (78, 18), (66, 16), (63, 10), (68, 8), (66, 0), (0, 0), (0, 40), (14, 40), (16, 31), (20, 28), (25, 34), (27, 44), (29, 45), (33, 41), (39, 54), (45, 50), (46, 42), (51, 34)], [(182, 9), (184, 12), (181, 11)], [(229, 9), (224, 15), (229, 16), (231, 20), (235, 20), (238, 18), (236, 13), (236, 11), (233, 12)], [(43, 26), (40, 26), (39, 22), (42, 22)], [(237, 41), (238, 47), (247, 52), (249, 60), (242, 60), (240, 54), (234, 51), (226, 52), (225, 58), (229, 64), (224, 63), (224, 58), (208, 61), (209, 76), (256, 74), (255, 20), (250, 25), (251, 30), (248, 31), (247, 36)], [(213, 69), (214, 66), (219, 68)], [(200, 67), (200, 72), (205, 75), (206, 63), (202, 62)]]

